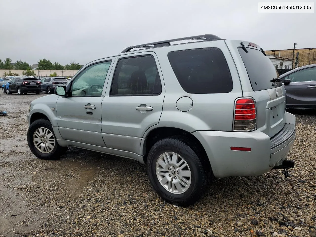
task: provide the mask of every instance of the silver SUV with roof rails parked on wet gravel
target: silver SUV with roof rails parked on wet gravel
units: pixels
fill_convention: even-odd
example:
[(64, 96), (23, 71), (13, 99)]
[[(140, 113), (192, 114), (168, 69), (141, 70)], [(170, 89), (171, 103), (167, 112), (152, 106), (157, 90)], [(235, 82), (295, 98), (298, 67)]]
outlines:
[(31, 102), (27, 142), (40, 159), (58, 159), (68, 146), (135, 159), (163, 199), (187, 206), (214, 177), (287, 175), (295, 116), (285, 108), (260, 46), (206, 34), (88, 63)]

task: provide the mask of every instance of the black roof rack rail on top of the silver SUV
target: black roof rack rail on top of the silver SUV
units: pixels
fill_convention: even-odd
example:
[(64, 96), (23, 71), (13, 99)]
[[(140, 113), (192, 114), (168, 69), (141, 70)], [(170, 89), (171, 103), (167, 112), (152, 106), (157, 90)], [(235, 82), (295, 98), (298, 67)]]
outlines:
[(130, 47), (126, 48), (125, 50), (123, 50), (121, 53), (129, 52), (131, 49), (135, 49), (135, 48), (155, 48), (155, 47), (169, 46), (169, 45), (171, 45), (170, 42), (180, 41), (180, 40), (210, 41), (210, 40), (222, 40), (222, 39), (214, 34), (203, 34), (203, 35), (189, 36), (189, 37), (178, 38), (178, 39), (173, 39), (173, 40), (157, 41), (157, 42), (143, 44), (143, 45), (130, 46)]

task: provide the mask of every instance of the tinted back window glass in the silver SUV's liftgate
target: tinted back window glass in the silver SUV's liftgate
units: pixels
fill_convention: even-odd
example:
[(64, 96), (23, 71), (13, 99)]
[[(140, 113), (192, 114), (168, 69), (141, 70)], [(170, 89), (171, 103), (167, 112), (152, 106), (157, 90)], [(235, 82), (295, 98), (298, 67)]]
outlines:
[(271, 89), (282, 86), (282, 82), (276, 82), (272, 85), (273, 78), (278, 78), (279, 74), (273, 66), (270, 58), (264, 56), (262, 51), (247, 48), (247, 53), (238, 47), (239, 54), (245, 64), (249, 80), (254, 91)]

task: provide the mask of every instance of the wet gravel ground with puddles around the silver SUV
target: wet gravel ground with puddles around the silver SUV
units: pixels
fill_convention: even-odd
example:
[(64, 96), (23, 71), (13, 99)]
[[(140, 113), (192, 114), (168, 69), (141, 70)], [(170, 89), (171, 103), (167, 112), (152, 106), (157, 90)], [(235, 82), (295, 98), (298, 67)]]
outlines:
[(0, 93), (9, 112), (0, 117), (0, 236), (316, 236), (315, 112), (296, 114), (289, 178), (217, 179), (181, 208), (161, 200), (136, 161), (76, 148), (59, 161), (35, 158), (26, 114), (41, 96)]

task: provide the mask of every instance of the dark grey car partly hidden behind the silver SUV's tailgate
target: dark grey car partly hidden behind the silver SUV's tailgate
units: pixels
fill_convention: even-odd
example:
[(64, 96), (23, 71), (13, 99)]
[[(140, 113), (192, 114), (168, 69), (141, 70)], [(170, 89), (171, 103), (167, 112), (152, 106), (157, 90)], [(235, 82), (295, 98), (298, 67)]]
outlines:
[(280, 78), (288, 109), (316, 109), (316, 64), (290, 70)]

